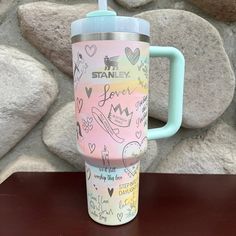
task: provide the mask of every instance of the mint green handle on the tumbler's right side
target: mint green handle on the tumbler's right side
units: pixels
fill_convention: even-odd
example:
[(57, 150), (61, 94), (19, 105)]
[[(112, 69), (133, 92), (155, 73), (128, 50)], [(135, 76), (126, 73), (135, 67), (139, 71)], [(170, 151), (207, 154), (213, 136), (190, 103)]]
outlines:
[(148, 139), (167, 138), (180, 128), (183, 113), (184, 68), (183, 54), (173, 47), (150, 47), (151, 57), (167, 57), (170, 60), (170, 83), (168, 102), (168, 121), (161, 128), (149, 129)]

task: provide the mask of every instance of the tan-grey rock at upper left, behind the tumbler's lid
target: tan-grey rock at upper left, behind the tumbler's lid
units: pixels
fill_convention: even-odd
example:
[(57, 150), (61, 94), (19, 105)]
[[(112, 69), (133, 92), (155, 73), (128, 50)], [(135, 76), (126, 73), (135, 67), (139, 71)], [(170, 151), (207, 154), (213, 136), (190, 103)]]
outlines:
[(34, 2), (19, 6), (18, 18), (23, 36), (60, 70), (72, 76), (71, 22), (96, 9), (95, 4)]

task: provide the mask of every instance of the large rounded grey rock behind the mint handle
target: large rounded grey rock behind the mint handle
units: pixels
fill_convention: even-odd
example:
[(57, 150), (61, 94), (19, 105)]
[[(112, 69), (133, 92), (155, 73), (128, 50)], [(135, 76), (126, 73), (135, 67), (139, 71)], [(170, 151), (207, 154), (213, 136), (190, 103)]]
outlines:
[[(174, 46), (186, 59), (183, 126), (201, 128), (220, 117), (232, 101), (235, 78), (217, 30), (182, 10), (155, 10), (137, 17), (151, 22), (151, 44)], [(168, 72), (165, 60), (151, 60), (149, 114), (167, 120)]]

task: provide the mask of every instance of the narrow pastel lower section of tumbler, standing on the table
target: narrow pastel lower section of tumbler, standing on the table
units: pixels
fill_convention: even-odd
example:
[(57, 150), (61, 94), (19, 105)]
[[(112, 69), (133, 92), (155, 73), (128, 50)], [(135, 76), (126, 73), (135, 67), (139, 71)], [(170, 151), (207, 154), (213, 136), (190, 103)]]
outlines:
[(121, 225), (138, 212), (140, 162), (125, 167), (94, 167), (86, 163), (88, 213), (104, 225)]

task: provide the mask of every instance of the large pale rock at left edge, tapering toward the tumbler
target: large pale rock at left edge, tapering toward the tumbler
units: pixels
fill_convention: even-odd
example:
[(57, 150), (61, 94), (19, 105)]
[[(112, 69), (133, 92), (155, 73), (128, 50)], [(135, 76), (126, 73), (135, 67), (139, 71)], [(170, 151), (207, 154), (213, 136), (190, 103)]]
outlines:
[(58, 88), (45, 66), (0, 46), (0, 157), (45, 115)]

